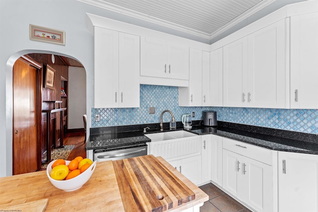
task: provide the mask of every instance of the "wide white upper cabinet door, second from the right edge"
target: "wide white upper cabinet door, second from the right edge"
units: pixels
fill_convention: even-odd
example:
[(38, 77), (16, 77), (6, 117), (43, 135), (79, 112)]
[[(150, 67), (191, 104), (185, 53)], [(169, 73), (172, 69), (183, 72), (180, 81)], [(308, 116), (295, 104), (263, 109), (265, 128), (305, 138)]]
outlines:
[(246, 107), (286, 107), (285, 19), (248, 35)]

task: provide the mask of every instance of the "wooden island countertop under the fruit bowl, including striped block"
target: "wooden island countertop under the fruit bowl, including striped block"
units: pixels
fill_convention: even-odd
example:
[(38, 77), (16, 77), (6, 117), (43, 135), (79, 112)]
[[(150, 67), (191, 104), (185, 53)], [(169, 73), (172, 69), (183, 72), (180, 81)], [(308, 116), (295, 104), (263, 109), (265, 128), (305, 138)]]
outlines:
[(0, 210), (30, 203), (22, 212), (34, 212), (32, 203), (43, 199), (49, 200), (46, 212), (180, 212), (208, 201), (207, 194), (153, 155), (97, 162), (91, 178), (73, 192), (55, 188), (46, 171), (2, 177), (0, 185)]

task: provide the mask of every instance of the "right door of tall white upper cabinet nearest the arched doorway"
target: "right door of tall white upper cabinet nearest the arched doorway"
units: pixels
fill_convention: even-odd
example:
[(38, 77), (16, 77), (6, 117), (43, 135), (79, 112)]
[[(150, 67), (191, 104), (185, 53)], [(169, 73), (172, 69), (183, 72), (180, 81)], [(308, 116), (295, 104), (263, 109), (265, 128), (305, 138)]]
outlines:
[(119, 107), (139, 107), (140, 37), (119, 33)]

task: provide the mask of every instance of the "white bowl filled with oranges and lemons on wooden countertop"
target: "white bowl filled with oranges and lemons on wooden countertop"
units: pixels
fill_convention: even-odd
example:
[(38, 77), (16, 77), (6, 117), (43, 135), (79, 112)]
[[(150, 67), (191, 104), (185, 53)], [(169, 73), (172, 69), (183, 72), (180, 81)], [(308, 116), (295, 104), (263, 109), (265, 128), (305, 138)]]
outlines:
[(88, 158), (77, 157), (71, 161), (58, 159), (48, 164), (46, 174), (53, 186), (69, 192), (82, 187), (91, 177), (95, 167), (96, 161), (92, 162)]

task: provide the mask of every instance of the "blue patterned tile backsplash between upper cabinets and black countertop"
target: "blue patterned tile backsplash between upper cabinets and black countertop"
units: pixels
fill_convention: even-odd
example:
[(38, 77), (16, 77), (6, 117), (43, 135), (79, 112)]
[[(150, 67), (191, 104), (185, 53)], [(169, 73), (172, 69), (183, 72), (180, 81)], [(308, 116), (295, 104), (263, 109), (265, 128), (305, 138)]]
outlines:
[[(149, 114), (149, 107), (155, 107), (155, 114)], [(92, 108), (91, 126), (95, 128), (159, 123), (163, 110), (172, 111), (176, 121), (181, 121), (182, 114), (192, 112), (195, 112), (192, 120), (200, 120), (202, 111), (215, 110), (218, 121), (318, 134), (318, 110), (179, 107), (178, 87), (144, 84), (140, 85), (139, 108)], [(94, 121), (95, 114), (100, 114), (99, 122)], [(163, 122), (170, 120), (170, 114), (165, 113)]]

